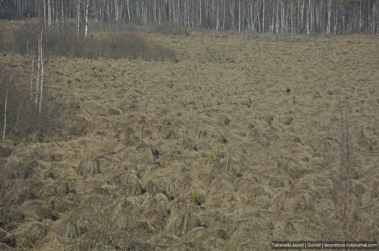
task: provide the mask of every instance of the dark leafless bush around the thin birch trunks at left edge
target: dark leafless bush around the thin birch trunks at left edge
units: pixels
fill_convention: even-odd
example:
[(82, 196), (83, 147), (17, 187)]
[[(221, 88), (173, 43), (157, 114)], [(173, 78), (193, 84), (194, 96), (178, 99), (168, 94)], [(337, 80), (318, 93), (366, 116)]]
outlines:
[(39, 113), (39, 104), (35, 104), (35, 92), (30, 97), (30, 82), (23, 80), (22, 74), (15, 68), (6, 65), (0, 67), (1, 133), (4, 129), (4, 104), (8, 92), (5, 138), (17, 143), (32, 134), (39, 141), (60, 135), (64, 129), (62, 121), (68, 116), (64, 103), (47, 95), (48, 91), (44, 91), (42, 109)]

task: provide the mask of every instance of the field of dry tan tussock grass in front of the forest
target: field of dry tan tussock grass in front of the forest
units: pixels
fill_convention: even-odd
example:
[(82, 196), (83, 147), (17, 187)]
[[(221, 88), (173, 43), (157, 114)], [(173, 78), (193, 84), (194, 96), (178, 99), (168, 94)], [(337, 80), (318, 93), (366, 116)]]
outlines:
[(0, 249), (378, 241), (377, 36), (143, 35), (179, 62), (46, 59), (72, 115), (0, 143)]

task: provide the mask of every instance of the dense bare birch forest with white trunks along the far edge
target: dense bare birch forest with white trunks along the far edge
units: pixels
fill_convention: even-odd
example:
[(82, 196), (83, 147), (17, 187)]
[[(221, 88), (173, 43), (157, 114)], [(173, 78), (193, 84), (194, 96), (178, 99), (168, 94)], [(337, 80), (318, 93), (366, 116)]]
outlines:
[(50, 29), (88, 22), (170, 23), (251, 33), (378, 33), (378, 0), (1, 0)]

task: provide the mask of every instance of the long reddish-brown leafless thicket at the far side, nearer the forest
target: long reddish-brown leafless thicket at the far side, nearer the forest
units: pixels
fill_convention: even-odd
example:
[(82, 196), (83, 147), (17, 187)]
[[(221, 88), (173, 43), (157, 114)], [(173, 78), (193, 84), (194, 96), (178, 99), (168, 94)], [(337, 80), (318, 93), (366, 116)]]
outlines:
[[(37, 48), (38, 34), (42, 26), (27, 24), (14, 34), (0, 33), (0, 50), (15, 53), (27, 53), (27, 41), (31, 50)], [(143, 59), (147, 61), (175, 60), (174, 50), (165, 48), (155, 42), (146, 40), (143, 36), (130, 31), (115, 31), (100, 36), (87, 37), (84, 34), (76, 36), (76, 30), (65, 28), (63, 31), (44, 35), (45, 56), (84, 57), (97, 59)], [(37, 50), (37, 49), (35, 49)]]

